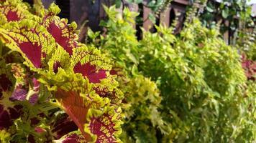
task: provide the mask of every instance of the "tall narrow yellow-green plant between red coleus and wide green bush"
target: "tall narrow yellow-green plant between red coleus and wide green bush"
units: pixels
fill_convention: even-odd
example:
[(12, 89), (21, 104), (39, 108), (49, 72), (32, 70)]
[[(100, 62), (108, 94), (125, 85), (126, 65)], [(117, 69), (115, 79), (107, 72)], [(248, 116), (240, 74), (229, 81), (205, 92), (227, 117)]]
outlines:
[[(94, 45), (101, 46), (101, 50), (112, 59), (114, 73), (118, 76), (119, 88), (124, 92), (123, 112), (124, 130), (122, 137), (124, 142), (156, 142), (156, 131), (170, 132), (169, 126), (161, 119), (160, 107), (161, 97), (155, 82), (144, 77), (137, 71), (140, 62), (139, 42), (135, 36), (135, 30), (131, 23), (137, 14), (124, 9), (124, 18), (114, 9), (114, 6), (107, 9), (109, 21), (101, 22), (106, 26), (106, 36), (101, 36), (100, 42), (93, 42)], [(88, 36), (93, 39), (96, 33), (88, 32)]]

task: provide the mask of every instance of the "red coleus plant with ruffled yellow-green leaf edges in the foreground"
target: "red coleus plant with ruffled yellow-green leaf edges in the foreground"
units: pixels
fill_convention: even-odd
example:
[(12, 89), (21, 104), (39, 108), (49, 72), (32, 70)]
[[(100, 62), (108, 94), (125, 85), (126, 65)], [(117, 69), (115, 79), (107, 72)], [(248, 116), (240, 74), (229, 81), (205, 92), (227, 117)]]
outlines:
[(1, 142), (120, 142), (123, 94), (109, 59), (60, 9), (0, 2)]

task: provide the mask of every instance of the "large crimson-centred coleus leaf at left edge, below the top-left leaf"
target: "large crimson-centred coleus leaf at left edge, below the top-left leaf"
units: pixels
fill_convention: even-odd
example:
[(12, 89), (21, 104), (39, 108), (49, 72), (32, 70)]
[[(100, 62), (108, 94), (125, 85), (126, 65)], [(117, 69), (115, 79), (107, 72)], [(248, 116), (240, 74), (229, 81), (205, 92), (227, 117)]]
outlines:
[(0, 38), (10, 49), (19, 51), (32, 68), (45, 66), (57, 47), (46, 29), (31, 20), (4, 26), (4, 29), (0, 29)]

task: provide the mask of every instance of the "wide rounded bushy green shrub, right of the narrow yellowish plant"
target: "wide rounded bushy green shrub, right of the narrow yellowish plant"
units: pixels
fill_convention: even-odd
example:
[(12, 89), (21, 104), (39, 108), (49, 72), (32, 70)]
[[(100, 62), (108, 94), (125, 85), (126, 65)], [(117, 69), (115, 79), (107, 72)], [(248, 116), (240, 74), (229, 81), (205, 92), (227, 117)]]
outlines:
[[(252, 130), (241, 124), (246, 79), (240, 56), (217, 31), (194, 19), (175, 38), (157, 27), (141, 41), (140, 71), (157, 81), (165, 121), (172, 124), (168, 140), (175, 142), (247, 142)], [(235, 129), (234, 129), (235, 128)], [(250, 137), (240, 137), (249, 133)], [(165, 137), (164, 137), (165, 138)]]

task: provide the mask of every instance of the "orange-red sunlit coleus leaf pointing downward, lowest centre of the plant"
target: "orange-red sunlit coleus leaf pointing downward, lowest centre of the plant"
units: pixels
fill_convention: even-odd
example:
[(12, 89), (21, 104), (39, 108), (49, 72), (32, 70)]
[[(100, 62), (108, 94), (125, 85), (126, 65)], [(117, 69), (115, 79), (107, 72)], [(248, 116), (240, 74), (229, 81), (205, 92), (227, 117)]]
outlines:
[(81, 134), (83, 134), (83, 137), (88, 141), (93, 140), (90, 132), (84, 130), (84, 124), (87, 122), (86, 117), (88, 114), (97, 114), (101, 108), (106, 106), (108, 100), (90, 95), (81, 95), (78, 92), (73, 91), (65, 92), (62, 89), (58, 89), (55, 97), (61, 107), (63, 107), (64, 111), (69, 115), (73, 122), (76, 123)]

